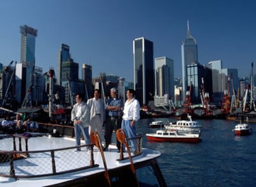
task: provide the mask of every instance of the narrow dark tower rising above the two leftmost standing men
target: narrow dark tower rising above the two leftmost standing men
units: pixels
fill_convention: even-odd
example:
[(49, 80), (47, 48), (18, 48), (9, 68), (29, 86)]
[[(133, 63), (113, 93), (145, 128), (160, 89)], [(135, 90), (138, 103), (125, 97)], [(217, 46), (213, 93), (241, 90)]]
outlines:
[[(90, 98), (93, 93), (93, 86), (92, 86), (92, 66), (86, 65), (85, 63), (82, 64), (82, 79), (84, 81), (84, 85), (86, 86), (87, 93), (86, 99)], [(87, 98), (88, 96), (88, 98)]]

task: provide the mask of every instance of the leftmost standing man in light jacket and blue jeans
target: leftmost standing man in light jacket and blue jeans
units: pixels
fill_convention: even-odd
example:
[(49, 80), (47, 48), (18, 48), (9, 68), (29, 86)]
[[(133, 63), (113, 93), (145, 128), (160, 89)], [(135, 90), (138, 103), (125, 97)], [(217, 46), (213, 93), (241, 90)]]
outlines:
[[(85, 144), (89, 144), (90, 135), (89, 135), (89, 124), (90, 124), (90, 108), (83, 101), (83, 95), (77, 94), (75, 96), (75, 105), (71, 111), (71, 120), (74, 121), (75, 129), (75, 146), (80, 146), (81, 132), (85, 140)], [(77, 148), (75, 151), (80, 151), (80, 148)], [(90, 148), (86, 148), (85, 151), (90, 152)]]

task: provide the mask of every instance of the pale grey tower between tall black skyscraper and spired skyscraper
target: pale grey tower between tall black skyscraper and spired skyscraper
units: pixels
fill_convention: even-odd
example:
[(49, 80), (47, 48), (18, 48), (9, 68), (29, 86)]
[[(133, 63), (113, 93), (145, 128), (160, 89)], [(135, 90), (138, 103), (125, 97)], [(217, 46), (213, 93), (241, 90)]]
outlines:
[(155, 95), (174, 96), (173, 60), (167, 57), (155, 58)]

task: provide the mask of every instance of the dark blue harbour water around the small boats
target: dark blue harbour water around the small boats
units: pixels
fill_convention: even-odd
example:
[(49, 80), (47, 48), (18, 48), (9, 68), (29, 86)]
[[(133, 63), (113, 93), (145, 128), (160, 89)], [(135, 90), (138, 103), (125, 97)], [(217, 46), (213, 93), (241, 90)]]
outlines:
[[(149, 123), (156, 120), (140, 119), (137, 132), (155, 132)], [(168, 186), (256, 186), (256, 124), (250, 124), (254, 133), (237, 137), (234, 121), (197, 121), (203, 125), (198, 143), (159, 143), (143, 137), (143, 147), (162, 153), (157, 161)]]

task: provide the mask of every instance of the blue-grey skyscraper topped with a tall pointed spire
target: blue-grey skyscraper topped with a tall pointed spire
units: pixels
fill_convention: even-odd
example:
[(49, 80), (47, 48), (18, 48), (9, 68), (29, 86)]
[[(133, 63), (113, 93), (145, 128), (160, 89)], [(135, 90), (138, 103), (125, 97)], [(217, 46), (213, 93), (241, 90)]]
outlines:
[(198, 63), (197, 41), (190, 35), (189, 21), (187, 21), (187, 37), (181, 45), (182, 58), (182, 97), (186, 97), (187, 87), (190, 85), (190, 80), (187, 79), (187, 65)]

